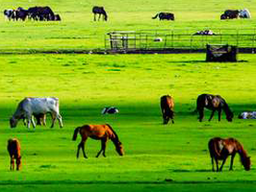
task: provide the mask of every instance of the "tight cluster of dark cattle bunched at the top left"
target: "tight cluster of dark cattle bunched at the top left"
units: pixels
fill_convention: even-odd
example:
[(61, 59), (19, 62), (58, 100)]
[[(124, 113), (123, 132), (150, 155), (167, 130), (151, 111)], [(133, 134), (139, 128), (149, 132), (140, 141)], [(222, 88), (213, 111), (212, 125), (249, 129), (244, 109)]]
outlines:
[(49, 6), (33, 6), (28, 9), (18, 7), (18, 9), (6, 9), (4, 10), (4, 15), (8, 20), (47, 20), (47, 21), (59, 21), (61, 20), (58, 14), (55, 14), (54, 11)]

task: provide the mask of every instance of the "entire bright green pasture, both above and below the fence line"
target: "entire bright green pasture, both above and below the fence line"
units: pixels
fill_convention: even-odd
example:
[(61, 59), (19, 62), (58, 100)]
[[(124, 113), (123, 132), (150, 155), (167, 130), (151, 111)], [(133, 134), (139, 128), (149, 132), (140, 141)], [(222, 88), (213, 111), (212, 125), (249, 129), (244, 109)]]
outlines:
[[(112, 30), (255, 28), (256, 2), (225, 0), (159, 1), (4, 1), (1, 8), (51, 6), (61, 22), (9, 22), (0, 19), (0, 190), (1, 191), (255, 191), (256, 141), (253, 120), (240, 120), (242, 111), (255, 111), (256, 57), (238, 54), (238, 63), (205, 63), (205, 54), (32, 54), (40, 51), (104, 48)], [(97, 5), (95, 5), (97, 4)], [(227, 6), (228, 5), (228, 6)], [(92, 6), (104, 6), (108, 22), (94, 22)], [(252, 19), (220, 21), (226, 8), (248, 7)], [(176, 21), (152, 20), (160, 11)], [(203, 28), (203, 29), (201, 29)], [(30, 53), (30, 54), (25, 54)], [(198, 122), (193, 111), (201, 93), (220, 94), (235, 113), (232, 123), (209, 111)], [(174, 97), (175, 124), (163, 125), (160, 97)], [(37, 126), (28, 130), (9, 118), (24, 97), (58, 97), (64, 127)], [(120, 113), (102, 115), (105, 106)], [(100, 141), (88, 139), (89, 159), (76, 158), (80, 138), (75, 127), (108, 123), (124, 145), (118, 156), (108, 141), (106, 158), (95, 158)], [(234, 137), (252, 161), (246, 172), (235, 158), (229, 172), (213, 173), (207, 143), (213, 137)], [(21, 144), (22, 167), (9, 171), (8, 138)]]

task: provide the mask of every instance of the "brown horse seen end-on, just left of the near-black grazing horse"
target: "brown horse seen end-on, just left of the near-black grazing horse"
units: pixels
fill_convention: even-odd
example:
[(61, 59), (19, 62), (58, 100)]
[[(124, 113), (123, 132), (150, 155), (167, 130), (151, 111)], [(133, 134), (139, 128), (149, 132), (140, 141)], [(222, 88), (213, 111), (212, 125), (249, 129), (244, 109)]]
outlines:
[(172, 123), (174, 124), (174, 99), (169, 95), (164, 95), (160, 99), (160, 106), (163, 114), (163, 124), (168, 124), (170, 119), (172, 119)]

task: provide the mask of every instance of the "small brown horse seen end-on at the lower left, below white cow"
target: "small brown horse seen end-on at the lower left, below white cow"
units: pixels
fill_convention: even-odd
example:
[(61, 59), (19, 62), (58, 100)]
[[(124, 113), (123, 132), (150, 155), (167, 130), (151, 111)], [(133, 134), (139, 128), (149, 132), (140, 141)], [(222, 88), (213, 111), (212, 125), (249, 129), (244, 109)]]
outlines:
[(9, 152), (11, 162), (10, 170), (14, 170), (14, 160), (16, 159), (17, 171), (21, 168), (20, 144), (17, 138), (10, 138), (7, 142), (7, 150)]

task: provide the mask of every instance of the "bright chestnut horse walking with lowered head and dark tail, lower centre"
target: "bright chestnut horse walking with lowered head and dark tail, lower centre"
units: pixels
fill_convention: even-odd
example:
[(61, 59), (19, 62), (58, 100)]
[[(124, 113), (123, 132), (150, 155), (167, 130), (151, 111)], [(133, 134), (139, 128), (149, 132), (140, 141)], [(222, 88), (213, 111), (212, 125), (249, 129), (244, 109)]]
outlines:
[(84, 158), (87, 158), (85, 151), (84, 151), (84, 144), (87, 138), (93, 138), (102, 141), (102, 149), (98, 152), (96, 157), (99, 157), (101, 152), (103, 151), (103, 155), (105, 157), (105, 146), (107, 139), (111, 139), (114, 145), (116, 146), (116, 151), (120, 156), (124, 155), (124, 150), (122, 143), (120, 142), (116, 132), (113, 128), (106, 124), (106, 125), (85, 125), (79, 126), (74, 130), (73, 140), (77, 139), (78, 133), (81, 136), (81, 141), (78, 146), (77, 158), (79, 158), (79, 150), (82, 149)]

